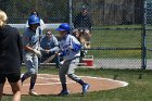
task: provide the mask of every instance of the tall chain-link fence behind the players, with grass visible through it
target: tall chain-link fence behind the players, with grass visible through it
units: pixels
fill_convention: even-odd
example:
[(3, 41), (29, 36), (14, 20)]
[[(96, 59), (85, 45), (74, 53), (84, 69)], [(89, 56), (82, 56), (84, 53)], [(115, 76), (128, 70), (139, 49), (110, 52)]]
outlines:
[[(47, 24), (71, 23), (74, 26), (76, 16), (86, 9), (92, 25), (91, 48), (86, 55), (92, 55), (91, 66), (103, 68), (145, 66), (143, 7), (143, 0), (0, 0), (0, 9), (8, 13), (10, 24), (25, 24), (30, 12), (36, 10)], [(151, 3), (147, 8), (147, 22), (151, 26)]]

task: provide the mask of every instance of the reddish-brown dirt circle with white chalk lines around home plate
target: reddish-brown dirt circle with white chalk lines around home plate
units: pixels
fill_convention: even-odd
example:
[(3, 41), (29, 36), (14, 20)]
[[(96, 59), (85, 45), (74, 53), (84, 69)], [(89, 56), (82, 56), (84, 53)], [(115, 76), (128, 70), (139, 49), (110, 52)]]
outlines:
[[(80, 76), (85, 81), (90, 84), (90, 91), (100, 91), (100, 90), (109, 90), (116, 89), (119, 87), (125, 87), (128, 83), (113, 80), (109, 78), (101, 77), (91, 77), (91, 76)], [(29, 88), (29, 79), (25, 80), (22, 87), (22, 93), (28, 94)], [(76, 84), (75, 81), (67, 78), (67, 88), (71, 93), (81, 92), (81, 86)], [(58, 94), (61, 91), (61, 83), (58, 75), (50, 74), (39, 74), (37, 84), (35, 86), (35, 90), (39, 94)], [(12, 94), (10, 85), (7, 83), (4, 86), (4, 93)]]

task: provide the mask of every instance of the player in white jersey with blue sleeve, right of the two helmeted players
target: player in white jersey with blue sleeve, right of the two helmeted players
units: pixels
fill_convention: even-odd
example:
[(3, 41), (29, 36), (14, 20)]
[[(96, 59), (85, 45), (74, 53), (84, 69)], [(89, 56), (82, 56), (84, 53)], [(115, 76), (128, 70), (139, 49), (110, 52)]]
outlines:
[(59, 93), (59, 96), (66, 96), (68, 94), (68, 90), (66, 87), (66, 77), (67, 75), (71, 79), (75, 80), (76, 83), (80, 84), (83, 86), (83, 94), (87, 92), (90, 85), (85, 83), (83, 79), (80, 79), (75, 74), (75, 68), (77, 67), (77, 64), (79, 63), (79, 56), (80, 56), (80, 42), (72, 35), (69, 35), (71, 27), (68, 24), (61, 24), (59, 28), (61, 41), (60, 41), (60, 49), (61, 52), (58, 53), (58, 55), (63, 56), (64, 62), (62, 66), (60, 67), (59, 76), (62, 84), (62, 91)]

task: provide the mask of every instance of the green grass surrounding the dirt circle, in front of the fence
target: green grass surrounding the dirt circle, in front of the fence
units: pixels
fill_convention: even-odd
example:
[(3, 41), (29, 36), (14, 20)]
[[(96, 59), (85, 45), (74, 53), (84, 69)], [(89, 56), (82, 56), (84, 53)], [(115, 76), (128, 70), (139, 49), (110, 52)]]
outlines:
[[(39, 72), (58, 74), (56, 68), (41, 68)], [(67, 97), (22, 96), (22, 101), (151, 101), (152, 99), (152, 71), (78, 68), (76, 74), (112, 79), (115, 75), (118, 75), (116, 78), (117, 80), (127, 81), (129, 85), (127, 87), (113, 90), (89, 92), (84, 97), (80, 93), (69, 94)], [(142, 74), (141, 79), (139, 79), (140, 74)], [(2, 101), (11, 101), (11, 96), (3, 96)]]

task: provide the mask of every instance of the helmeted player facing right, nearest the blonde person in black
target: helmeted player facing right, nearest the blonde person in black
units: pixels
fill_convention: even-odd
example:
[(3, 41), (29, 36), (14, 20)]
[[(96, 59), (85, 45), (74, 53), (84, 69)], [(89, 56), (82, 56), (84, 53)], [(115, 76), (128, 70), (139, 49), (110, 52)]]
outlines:
[(35, 92), (34, 87), (38, 74), (38, 56), (41, 56), (41, 52), (39, 51), (40, 41), (38, 29), (40, 18), (36, 15), (31, 15), (28, 18), (28, 24), (29, 27), (26, 28), (23, 35), (23, 56), (28, 71), (21, 79), (23, 83), (25, 79), (30, 77), (29, 94), (38, 96), (38, 93)]

